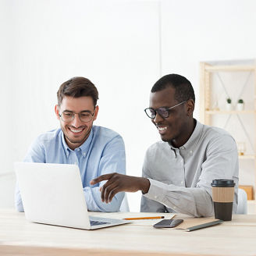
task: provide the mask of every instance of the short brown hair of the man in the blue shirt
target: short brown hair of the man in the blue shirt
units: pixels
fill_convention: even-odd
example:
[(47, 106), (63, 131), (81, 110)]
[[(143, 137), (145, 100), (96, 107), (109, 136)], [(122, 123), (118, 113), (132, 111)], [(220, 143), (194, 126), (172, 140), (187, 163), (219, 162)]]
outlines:
[(65, 96), (71, 96), (73, 98), (89, 96), (93, 99), (95, 107), (98, 100), (98, 90), (87, 78), (76, 76), (67, 80), (59, 87), (57, 91), (59, 105), (61, 105)]

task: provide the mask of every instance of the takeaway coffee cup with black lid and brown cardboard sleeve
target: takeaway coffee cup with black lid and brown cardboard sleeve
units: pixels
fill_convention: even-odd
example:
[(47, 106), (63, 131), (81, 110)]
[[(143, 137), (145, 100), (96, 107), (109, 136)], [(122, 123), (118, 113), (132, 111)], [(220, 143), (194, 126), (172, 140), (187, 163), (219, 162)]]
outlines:
[(233, 180), (212, 180), (215, 219), (231, 220), (235, 185)]

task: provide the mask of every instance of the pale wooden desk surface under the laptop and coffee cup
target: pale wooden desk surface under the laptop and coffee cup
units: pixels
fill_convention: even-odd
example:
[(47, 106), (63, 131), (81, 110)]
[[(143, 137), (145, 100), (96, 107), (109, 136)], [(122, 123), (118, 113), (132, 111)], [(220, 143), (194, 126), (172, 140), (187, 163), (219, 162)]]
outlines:
[(0, 255), (5, 254), (256, 255), (256, 215), (233, 215), (232, 222), (193, 232), (134, 224), (82, 230), (31, 223), (23, 213), (0, 210)]

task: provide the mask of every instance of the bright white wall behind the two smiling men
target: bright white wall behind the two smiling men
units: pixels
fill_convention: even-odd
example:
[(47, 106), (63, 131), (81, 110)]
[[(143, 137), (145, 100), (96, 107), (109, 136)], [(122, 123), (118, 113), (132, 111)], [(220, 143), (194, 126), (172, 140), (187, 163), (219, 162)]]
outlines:
[[(0, 0), (1, 172), (12, 171), (37, 134), (59, 125), (59, 85), (85, 76), (99, 91), (96, 124), (121, 133), (127, 174), (140, 176), (144, 151), (159, 139), (143, 110), (160, 73), (194, 84), (199, 118), (199, 62), (255, 58), (255, 9), (254, 0)], [(140, 193), (128, 199), (139, 211)]]

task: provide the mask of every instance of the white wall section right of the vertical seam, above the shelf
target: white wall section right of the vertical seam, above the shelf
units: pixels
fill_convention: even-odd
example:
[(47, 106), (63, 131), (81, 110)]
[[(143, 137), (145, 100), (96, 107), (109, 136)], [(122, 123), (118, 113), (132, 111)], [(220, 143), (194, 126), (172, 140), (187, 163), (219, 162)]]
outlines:
[(254, 59), (254, 0), (162, 1), (162, 73), (194, 85), (199, 116), (199, 62)]

